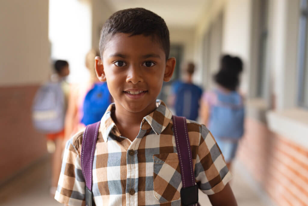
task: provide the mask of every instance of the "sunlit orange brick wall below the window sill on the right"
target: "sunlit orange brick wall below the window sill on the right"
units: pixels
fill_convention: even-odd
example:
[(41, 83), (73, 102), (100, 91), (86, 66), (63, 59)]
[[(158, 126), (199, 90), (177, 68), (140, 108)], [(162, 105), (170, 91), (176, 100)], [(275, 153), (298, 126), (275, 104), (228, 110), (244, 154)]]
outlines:
[(237, 157), (254, 180), (277, 205), (308, 205), (308, 149), (257, 120), (245, 126)]

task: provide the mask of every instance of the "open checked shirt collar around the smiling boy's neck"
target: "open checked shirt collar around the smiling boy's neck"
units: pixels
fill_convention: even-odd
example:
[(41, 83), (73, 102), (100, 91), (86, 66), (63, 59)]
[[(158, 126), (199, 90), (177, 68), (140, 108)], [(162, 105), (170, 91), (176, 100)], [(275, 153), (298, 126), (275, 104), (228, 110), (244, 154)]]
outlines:
[[(120, 137), (120, 132), (111, 118), (111, 113), (115, 111), (115, 104), (112, 103), (107, 108), (100, 122), (100, 130), (105, 142), (108, 141), (110, 132)], [(172, 118), (172, 112), (167, 108), (166, 104), (161, 101), (156, 101), (156, 109), (151, 114), (145, 116), (141, 122), (141, 129), (152, 128), (156, 134), (160, 134), (168, 126)]]

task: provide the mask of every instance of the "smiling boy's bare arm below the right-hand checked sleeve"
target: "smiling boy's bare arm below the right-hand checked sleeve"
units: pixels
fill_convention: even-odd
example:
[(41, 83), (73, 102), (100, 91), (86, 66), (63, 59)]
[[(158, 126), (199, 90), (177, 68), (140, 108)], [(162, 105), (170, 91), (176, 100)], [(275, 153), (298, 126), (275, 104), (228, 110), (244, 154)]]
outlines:
[(220, 192), (217, 192), (213, 195), (208, 195), (210, 202), (213, 206), (228, 205), (228, 206), (237, 206), (235, 197), (231, 190), (231, 187), (228, 184)]

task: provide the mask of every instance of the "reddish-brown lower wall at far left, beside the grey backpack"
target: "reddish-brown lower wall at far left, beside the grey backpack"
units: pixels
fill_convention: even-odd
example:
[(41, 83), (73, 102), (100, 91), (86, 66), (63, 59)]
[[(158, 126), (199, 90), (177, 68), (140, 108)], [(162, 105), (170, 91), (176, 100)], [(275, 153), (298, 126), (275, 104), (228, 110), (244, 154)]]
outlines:
[(0, 183), (43, 157), (46, 138), (32, 126), (34, 86), (0, 87)]

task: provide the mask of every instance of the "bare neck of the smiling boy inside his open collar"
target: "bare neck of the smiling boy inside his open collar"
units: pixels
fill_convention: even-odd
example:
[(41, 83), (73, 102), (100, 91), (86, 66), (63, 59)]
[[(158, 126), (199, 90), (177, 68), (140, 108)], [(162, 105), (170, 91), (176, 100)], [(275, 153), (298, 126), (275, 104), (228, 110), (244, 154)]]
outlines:
[[(143, 111), (140, 112), (130, 112), (126, 110), (120, 103), (115, 101), (115, 112), (111, 114), (112, 120), (115, 122), (115, 125), (119, 129), (120, 133), (124, 137), (129, 138), (129, 133), (133, 131), (132, 128), (140, 128), (140, 124), (143, 118), (151, 114), (156, 109), (156, 101), (151, 103)], [(138, 133), (137, 133), (138, 134)], [(133, 137), (136, 137), (137, 134), (133, 134)], [(131, 138), (129, 138), (131, 139)]]

